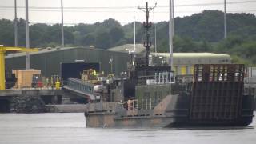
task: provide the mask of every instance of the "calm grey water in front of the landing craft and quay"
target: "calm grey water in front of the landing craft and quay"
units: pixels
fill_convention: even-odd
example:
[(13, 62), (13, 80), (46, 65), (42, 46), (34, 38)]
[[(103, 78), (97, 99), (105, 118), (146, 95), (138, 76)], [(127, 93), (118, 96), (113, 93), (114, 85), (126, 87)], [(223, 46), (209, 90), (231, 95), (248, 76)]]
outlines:
[(0, 143), (150, 144), (256, 143), (256, 120), (230, 130), (93, 129), (83, 114), (0, 114)]

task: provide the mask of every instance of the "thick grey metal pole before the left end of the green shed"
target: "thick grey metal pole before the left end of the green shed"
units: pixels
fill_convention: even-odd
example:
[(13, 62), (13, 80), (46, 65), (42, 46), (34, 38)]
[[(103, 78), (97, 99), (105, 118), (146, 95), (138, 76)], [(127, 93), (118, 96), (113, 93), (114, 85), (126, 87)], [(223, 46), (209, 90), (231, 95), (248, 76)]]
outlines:
[[(29, 3), (26, 0), (26, 48), (30, 48)], [(26, 70), (30, 69), (30, 53), (26, 52)]]

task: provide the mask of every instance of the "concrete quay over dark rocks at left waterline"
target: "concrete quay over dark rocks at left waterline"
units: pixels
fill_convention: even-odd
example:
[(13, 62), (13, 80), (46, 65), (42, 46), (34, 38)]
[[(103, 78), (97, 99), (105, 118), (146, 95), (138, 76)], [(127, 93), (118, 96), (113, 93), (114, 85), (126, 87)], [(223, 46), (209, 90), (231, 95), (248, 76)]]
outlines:
[(47, 112), (46, 104), (61, 104), (63, 95), (54, 89), (0, 90), (0, 113)]

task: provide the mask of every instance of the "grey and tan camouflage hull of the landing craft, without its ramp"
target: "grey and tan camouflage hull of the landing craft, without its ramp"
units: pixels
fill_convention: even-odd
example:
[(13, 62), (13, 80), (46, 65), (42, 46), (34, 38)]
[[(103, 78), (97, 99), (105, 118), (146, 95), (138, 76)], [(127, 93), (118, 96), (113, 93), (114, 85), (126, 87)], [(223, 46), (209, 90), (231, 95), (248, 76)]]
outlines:
[[(249, 98), (249, 97), (244, 97)], [(246, 99), (244, 99), (246, 101)], [(247, 99), (248, 102), (248, 99)], [(244, 103), (248, 106), (250, 103)], [(190, 126), (248, 126), (253, 110), (243, 107), (234, 119), (194, 120), (190, 118), (190, 98), (168, 95), (153, 110), (126, 110), (117, 102), (87, 104), (86, 127), (101, 128), (165, 128)], [(247, 107), (248, 108), (248, 107)]]

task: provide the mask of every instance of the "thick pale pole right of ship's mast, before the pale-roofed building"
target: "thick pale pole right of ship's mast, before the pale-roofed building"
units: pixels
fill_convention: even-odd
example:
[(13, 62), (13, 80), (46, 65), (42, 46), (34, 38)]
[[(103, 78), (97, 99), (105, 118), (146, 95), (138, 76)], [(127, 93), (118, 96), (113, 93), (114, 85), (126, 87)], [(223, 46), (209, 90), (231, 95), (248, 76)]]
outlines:
[(172, 69), (173, 67), (173, 10), (172, 10), (172, 0), (170, 0), (170, 22), (169, 22), (169, 48), (170, 48), (170, 62), (169, 65)]

